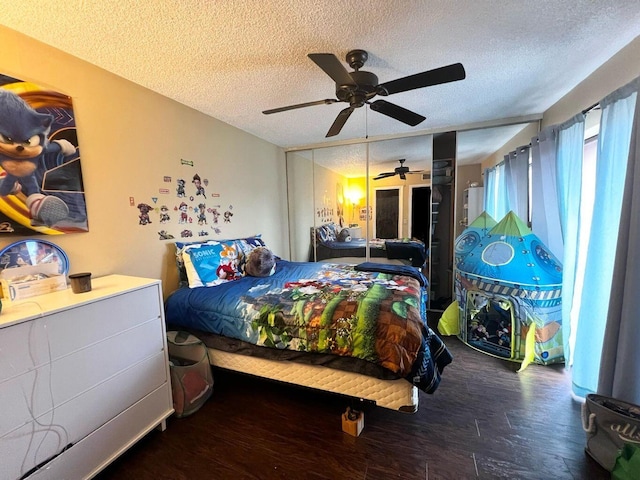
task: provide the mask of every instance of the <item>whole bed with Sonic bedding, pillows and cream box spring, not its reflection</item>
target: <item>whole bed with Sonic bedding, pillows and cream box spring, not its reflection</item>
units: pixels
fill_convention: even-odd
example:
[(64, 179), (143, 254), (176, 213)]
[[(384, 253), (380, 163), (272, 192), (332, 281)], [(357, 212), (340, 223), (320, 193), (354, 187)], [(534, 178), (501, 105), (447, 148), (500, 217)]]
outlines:
[[(222, 244), (219, 255), (205, 255), (211, 243)], [(260, 244), (177, 244), (179, 265), (194, 275), (194, 260), (213, 258), (205, 274), (216, 262), (240, 273)], [(452, 360), (427, 326), (426, 280), (415, 267), (278, 259), (268, 277), (201, 278), (202, 286), (186, 277), (191, 286), (166, 299), (168, 328), (200, 338), (217, 367), (415, 412), (419, 390), (433, 393)]]

